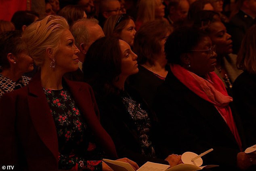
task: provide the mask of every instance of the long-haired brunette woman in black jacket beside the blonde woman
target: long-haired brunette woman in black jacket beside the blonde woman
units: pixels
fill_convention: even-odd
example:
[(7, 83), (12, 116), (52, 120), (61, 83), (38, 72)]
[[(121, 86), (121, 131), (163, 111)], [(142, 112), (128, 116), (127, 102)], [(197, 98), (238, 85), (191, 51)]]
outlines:
[(155, 158), (155, 115), (126, 84), (128, 76), (138, 72), (136, 59), (128, 43), (113, 37), (103, 37), (90, 46), (83, 72), (95, 92), (101, 123), (112, 137), (119, 157), (126, 156), (138, 165), (147, 161), (177, 165), (181, 163), (178, 155), (165, 160)]

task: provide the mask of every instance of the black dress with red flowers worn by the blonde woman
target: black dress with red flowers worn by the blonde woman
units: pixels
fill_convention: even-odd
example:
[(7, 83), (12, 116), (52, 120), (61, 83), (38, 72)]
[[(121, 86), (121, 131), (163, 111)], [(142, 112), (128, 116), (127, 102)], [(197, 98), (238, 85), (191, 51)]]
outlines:
[(102, 149), (96, 146), (94, 136), (69, 92), (44, 89), (44, 93), (57, 129), (59, 169), (101, 171)]

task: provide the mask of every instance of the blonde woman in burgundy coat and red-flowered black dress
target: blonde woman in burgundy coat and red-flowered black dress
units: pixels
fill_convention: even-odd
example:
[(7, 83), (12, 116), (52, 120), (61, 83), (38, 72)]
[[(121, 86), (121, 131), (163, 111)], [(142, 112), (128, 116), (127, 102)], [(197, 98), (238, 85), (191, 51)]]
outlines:
[(99, 122), (91, 87), (62, 79), (78, 69), (79, 49), (67, 21), (46, 16), (27, 27), (22, 39), (41, 71), (0, 101), (1, 162), (17, 170), (111, 170), (100, 159), (117, 154)]

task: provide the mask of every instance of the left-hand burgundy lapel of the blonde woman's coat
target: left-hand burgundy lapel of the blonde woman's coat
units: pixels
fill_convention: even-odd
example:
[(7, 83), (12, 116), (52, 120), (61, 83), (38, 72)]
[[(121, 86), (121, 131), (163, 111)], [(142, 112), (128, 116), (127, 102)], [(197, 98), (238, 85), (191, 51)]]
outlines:
[(49, 150), (58, 162), (58, 139), (57, 131), (53, 117), (50, 113), (50, 107), (43, 92), (40, 72), (28, 84), (28, 105), (34, 127)]

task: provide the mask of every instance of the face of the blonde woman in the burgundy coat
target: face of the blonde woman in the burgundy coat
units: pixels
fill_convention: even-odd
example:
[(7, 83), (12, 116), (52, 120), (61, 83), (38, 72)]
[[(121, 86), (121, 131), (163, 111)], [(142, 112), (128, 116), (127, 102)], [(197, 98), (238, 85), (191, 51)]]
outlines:
[(60, 36), (59, 47), (54, 56), (55, 68), (64, 73), (77, 70), (79, 62), (78, 53), (80, 51), (74, 43), (73, 35), (68, 29), (65, 30)]

